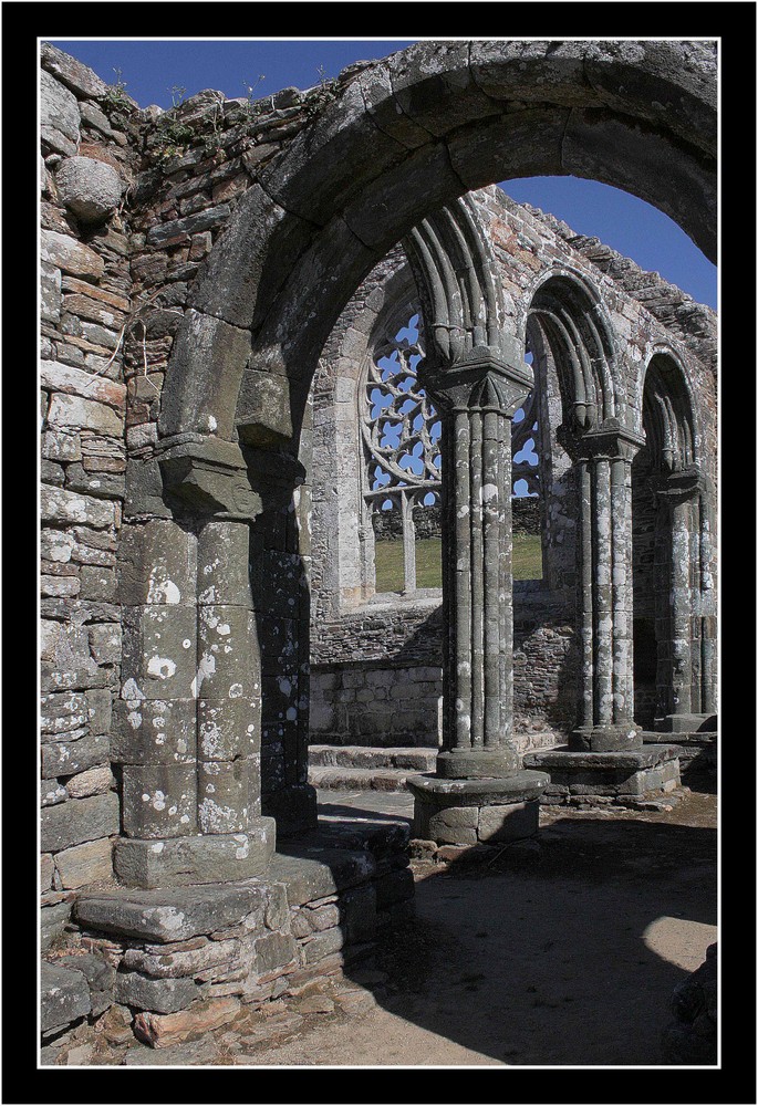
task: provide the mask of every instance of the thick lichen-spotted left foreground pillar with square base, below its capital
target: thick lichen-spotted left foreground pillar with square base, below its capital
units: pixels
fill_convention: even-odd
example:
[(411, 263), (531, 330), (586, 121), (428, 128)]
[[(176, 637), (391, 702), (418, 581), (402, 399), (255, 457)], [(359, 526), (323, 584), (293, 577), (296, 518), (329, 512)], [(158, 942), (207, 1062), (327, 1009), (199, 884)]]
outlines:
[(274, 825), (260, 816), (260, 664), (249, 528), (154, 520), (127, 528), (121, 764), (114, 866), (156, 887), (259, 875)]

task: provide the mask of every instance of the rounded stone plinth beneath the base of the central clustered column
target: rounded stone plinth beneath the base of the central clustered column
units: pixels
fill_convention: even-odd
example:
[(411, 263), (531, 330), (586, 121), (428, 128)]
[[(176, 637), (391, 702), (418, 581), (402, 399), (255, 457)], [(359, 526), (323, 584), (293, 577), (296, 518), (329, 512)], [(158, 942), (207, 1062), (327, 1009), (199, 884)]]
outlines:
[(543, 772), (515, 772), (488, 780), (445, 780), (414, 775), (414, 837), (439, 845), (478, 845), (522, 841), (539, 827), (539, 795), (549, 782)]

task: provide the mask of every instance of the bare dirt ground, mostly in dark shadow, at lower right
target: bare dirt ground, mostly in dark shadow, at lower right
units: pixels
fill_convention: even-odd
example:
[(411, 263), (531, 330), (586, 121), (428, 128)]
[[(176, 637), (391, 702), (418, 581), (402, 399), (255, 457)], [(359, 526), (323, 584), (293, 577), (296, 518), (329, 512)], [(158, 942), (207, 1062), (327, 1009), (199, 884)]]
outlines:
[[(415, 863), (416, 921), (352, 972), (368, 993), (247, 1065), (662, 1065), (675, 985), (716, 940), (716, 796), (542, 811), (539, 846)], [(351, 972), (347, 973), (349, 975)]]

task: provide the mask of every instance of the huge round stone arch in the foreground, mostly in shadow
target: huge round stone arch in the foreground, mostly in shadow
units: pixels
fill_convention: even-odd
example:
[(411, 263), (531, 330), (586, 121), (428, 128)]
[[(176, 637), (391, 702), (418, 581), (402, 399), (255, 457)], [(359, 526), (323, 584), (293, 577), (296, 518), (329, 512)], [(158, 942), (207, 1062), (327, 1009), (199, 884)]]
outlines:
[[(697, 42), (422, 43), (368, 66), (237, 206), (177, 335), (162, 436), (207, 435), (212, 419), (226, 440), (297, 437), (342, 304), (429, 210), (471, 188), (592, 177), (671, 215), (714, 257), (715, 72)], [(271, 385), (274, 425), (261, 410)]]

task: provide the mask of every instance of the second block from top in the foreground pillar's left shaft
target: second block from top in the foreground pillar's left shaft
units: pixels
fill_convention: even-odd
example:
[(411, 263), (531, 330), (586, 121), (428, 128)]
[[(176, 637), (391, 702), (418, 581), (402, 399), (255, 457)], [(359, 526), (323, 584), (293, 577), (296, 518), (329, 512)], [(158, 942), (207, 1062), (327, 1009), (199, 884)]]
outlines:
[(134, 680), (145, 699), (194, 698), (201, 677), (193, 607), (127, 607), (122, 657), (122, 680)]

